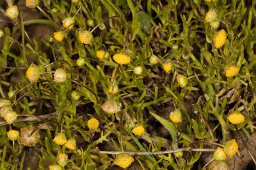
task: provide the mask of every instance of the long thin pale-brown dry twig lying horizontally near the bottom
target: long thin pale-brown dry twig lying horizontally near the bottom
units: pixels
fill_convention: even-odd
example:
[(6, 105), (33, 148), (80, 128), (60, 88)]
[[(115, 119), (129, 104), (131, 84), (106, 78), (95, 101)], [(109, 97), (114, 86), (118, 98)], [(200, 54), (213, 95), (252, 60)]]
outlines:
[(175, 153), (175, 152), (182, 152), (182, 151), (188, 151), (188, 152), (215, 152), (215, 149), (210, 148), (179, 148), (177, 150), (166, 150), (166, 151), (157, 151), (157, 152), (116, 152), (116, 151), (100, 151), (99, 153), (102, 154), (111, 154), (111, 155), (118, 155), (120, 153), (128, 153), (129, 155), (160, 155), (160, 154), (166, 154), (166, 153)]

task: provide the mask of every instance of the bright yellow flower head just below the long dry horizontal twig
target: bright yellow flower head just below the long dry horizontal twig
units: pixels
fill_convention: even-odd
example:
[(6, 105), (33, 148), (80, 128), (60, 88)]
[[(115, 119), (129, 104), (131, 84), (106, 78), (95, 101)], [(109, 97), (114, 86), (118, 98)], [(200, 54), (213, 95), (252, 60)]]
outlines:
[(116, 156), (116, 159), (114, 160), (114, 164), (122, 168), (127, 168), (131, 166), (133, 161), (134, 159), (128, 153), (120, 153), (119, 155)]

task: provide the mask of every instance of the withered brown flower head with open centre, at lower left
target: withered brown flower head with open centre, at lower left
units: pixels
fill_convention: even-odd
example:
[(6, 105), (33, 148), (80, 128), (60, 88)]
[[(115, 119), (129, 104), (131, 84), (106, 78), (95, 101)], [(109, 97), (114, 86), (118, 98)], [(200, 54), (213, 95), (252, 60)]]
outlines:
[[(33, 132), (33, 134), (31, 134)], [(40, 138), (39, 131), (32, 125), (20, 129), (20, 143), (25, 146), (35, 146)]]

